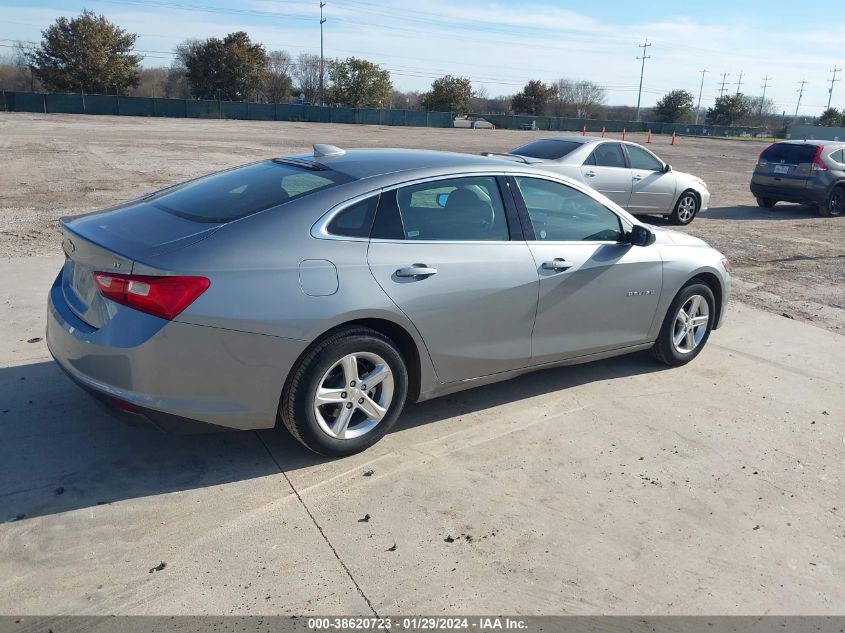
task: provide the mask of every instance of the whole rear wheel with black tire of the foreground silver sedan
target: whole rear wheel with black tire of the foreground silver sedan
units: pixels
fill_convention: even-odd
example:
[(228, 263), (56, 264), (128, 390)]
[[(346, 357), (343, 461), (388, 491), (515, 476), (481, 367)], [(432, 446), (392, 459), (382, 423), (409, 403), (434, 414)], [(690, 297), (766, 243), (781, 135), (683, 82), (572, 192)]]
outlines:
[[(368, 386), (368, 377), (379, 382)], [(396, 422), (407, 394), (408, 371), (393, 342), (370, 328), (346, 328), (318, 340), (300, 358), (282, 392), (279, 415), (291, 435), (315, 453), (343, 457), (378, 442)]]

